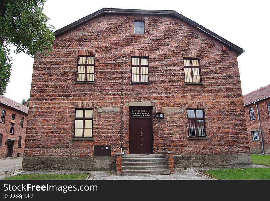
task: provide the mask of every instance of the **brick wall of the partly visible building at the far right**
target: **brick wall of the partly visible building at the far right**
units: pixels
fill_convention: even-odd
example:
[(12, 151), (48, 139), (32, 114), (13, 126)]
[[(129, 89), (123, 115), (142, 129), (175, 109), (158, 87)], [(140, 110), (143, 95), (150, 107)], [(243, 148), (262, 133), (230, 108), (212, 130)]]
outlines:
[[(270, 90), (270, 87), (268, 87)], [(270, 115), (268, 114), (267, 102), (270, 102), (270, 98), (261, 100), (256, 102), (259, 108), (260, 115), (260, 124), (261, 124), (261, 132), (262, 139), (264, 145), (264, 153), (270, 154)], [(253, 107), (255, 119), (250, 119), (249, 108)], [(245, 106), (245, 117), (247, 122), (247, 133), (249, 137), (249, 145), (250, 145), (250, 153), (259, 153), (262, 154), (262, 145), (261, 145), (261, 137), (260, 137), (260, 126), (258, 121), (257, 114), (257, 106), (253, 104), (249, 104)], [(252, 140), (251, 132), (258, 131), (259, 133), (259, 141)]]

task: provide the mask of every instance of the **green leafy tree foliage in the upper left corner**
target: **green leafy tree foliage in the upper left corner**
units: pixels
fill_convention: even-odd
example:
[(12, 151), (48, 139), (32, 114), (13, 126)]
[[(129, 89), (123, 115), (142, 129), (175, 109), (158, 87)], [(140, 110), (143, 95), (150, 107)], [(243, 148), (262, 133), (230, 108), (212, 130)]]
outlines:
[(11, 45), (15, 53), (48, 54), (52, 50), (54, 27), (44, 13), (46, 0), (0, 0), (0, 95), (11, 74)]

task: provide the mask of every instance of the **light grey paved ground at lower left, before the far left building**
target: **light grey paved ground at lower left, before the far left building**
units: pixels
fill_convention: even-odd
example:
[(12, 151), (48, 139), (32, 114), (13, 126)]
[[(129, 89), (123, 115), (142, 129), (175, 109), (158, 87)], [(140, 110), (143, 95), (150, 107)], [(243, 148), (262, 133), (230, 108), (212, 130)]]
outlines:
[(0, 179), (22, 170), (22, 157), (0, 159)]

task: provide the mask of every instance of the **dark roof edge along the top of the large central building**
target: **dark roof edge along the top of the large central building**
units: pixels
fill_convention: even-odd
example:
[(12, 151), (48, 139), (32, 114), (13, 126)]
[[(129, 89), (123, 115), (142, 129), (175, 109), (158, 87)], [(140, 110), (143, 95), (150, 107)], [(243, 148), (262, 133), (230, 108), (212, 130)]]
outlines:
[(211, 37), (217, 39), (218, 41), (222, 42), (223, 44), (230, 47), (230, 49), (233, 49), (236, 51), (237, 56), (242, 54), (244, 50), (237, 45), (231, 43), (230, 41), (227, 41), (226, 39), (220, 37), (218, 34), (215, 34), (214, 32), (211, 32), (209, 29), (206, 29), (205, 27), (199, 25), (195, 21), (192, 21), (191, 19), (177, 13), (174, 10), (140, 10), (140, 9), (118, 9), (118, 8), (102, 8), (95, 13), (92, 13), (90, 15), (87, 15), (86, 17), (83, 17), (70, 25), (67, 25), (61, 29), (58, 29), (55, 31), (55, 36), (59, 36), (65, 32), (67, 32), (70, 29), (74, 29), (75, 27), (101, 15), (101, 14), (151, 14), (151, 15), (170, 15), (172, 17), (178, 17), (179, 19), (187, 22), (188, 24), (196, 27), (197, 29), (201, 30), (202, 32), (206, 33), (207, 35), (210, 35)]

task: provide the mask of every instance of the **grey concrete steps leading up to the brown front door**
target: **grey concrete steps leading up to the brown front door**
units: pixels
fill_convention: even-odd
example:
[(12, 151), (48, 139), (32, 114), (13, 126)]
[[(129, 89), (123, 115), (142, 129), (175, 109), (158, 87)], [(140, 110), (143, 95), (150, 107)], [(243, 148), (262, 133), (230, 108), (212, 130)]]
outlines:
[(170, 174), (162, 154), (122, 155), (122, 175), (164, 175)]

